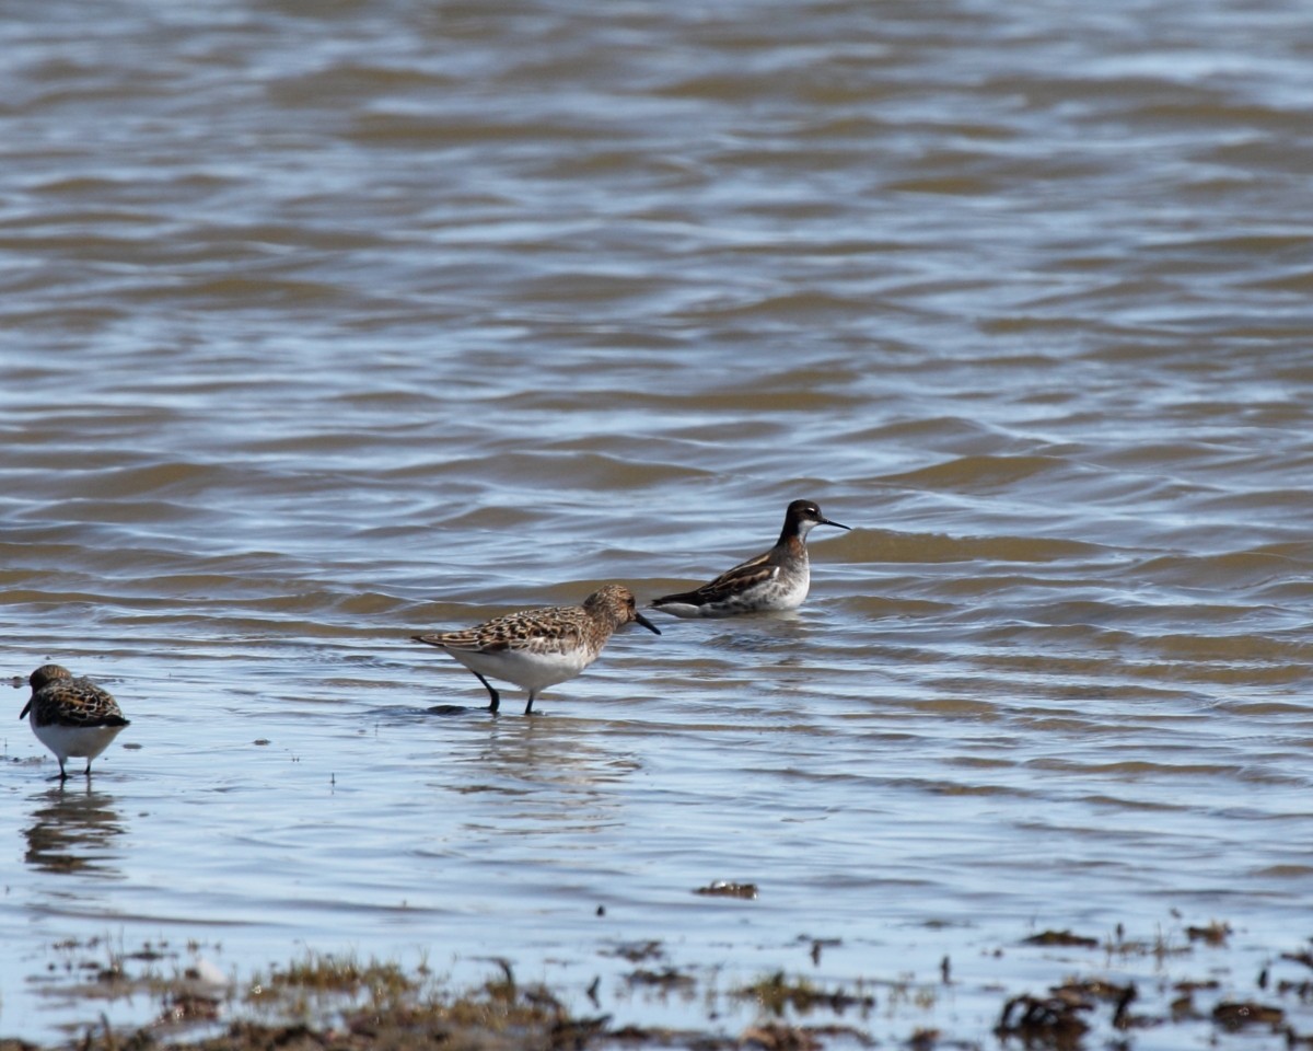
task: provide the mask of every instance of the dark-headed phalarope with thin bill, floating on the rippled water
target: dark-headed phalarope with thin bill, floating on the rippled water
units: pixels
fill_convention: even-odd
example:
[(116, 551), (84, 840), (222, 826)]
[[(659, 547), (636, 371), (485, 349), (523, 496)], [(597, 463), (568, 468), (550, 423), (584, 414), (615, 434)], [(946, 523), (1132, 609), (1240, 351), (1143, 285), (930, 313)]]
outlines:
[(794, 501), (784, 512), (784, 529), (773, 548), (693, 591), (654, 599), (653, 608), (675, 616), (735, 616), (796, 610), (811, 587), (806, 540), (813, 526), (848, 528), (827, 519), (811, 501)]

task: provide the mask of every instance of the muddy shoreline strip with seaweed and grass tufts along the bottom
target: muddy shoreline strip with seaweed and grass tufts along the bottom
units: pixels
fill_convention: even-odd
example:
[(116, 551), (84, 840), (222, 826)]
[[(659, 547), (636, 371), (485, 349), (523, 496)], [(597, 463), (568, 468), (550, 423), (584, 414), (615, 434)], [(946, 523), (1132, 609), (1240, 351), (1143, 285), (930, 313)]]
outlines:
[[(72, 1005), (66, 1038), (0, 1037), (0, 1051), (1313, 1047), (1313, 941), (1257, 955), (1232, 941), (1224, 921), (1149, 938), (1054, 928), (970, 950), (969, 983), (955, 976), (951, 956), (923, 981), (821, 981), (781, 970), (725, 983), (714, 963), (675, 962), (653, 939), (609, 949), (628, 968), (618, 985), (603, 989), (596, 979), (580, 993), (521, 981), (506, 958), (487, 960), (482, 983), (453, 988), (423, 962), (307, 952), (235, 976), (196, 943), (125, 951), (92, 939), (53, 946), (47, 973), (34, 979)], [(813, 960), (835, 945), (814, 942)], [(982, 980), (986, 970), (997, 975)], [(687, 1023), (626, 1021), (643, 997), (679, 1001)], [(109, 1021), (108, 1005), (123, 1002), (140, 1022)]]

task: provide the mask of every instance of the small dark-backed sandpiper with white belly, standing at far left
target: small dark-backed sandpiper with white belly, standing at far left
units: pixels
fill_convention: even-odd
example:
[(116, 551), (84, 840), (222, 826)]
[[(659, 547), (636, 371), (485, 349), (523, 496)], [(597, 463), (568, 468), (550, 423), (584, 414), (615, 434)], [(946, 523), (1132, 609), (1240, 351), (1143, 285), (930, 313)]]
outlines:
[(28, 682), (32, 699), (18, 719), (32, 712), (28, 719), (32, 732), (59, 759), (59, 780), (68, 778), (64, 762), (70, 755), (85, 757), (83, 772), (91, 776), (91, 761), (129, 725), (118, 703), (91, 679), (75, 679), (59, 665), (42, 665)]

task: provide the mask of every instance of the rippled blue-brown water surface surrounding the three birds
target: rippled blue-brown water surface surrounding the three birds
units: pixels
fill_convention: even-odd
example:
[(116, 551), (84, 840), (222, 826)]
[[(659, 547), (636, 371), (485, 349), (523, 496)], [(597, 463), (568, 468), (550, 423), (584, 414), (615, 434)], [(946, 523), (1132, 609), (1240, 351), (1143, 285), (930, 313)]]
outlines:
[[(1037, 929), (1224, 920), (1237, 995), (1313, 934), (1306, 5), (12, 16), (5, 674), (133, 725), (60, 790), (9, 696), (0, 1033), (96, 937), (667, 1022), (617, 946), (952, 955), (898, 1040), (987, 1034)], [(415, 631), (708, 579), (797, 497), (855, 527), (797, 615), (428, 712), (484, 695)]]

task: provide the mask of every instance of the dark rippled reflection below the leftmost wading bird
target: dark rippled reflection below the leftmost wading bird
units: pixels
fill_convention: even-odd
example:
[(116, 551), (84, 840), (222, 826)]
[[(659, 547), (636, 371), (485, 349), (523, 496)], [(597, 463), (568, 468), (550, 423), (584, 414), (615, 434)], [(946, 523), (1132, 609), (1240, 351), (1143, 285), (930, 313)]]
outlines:
[(51, 788), (34, 796), (25, 861), (43, 872), (84, 872), (116, 876), (110, 864), (116, 837), (126, 829), (114, 808), (114, 797), (85, 790)]

